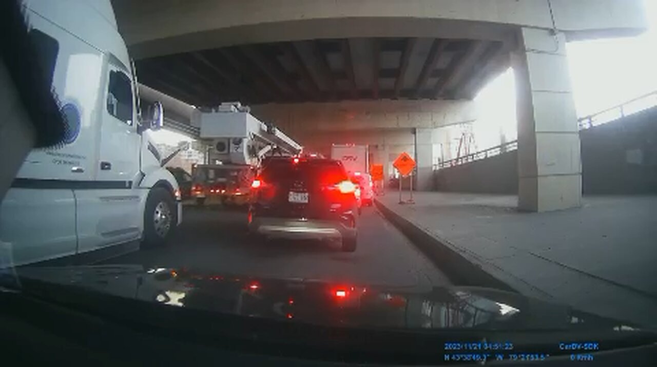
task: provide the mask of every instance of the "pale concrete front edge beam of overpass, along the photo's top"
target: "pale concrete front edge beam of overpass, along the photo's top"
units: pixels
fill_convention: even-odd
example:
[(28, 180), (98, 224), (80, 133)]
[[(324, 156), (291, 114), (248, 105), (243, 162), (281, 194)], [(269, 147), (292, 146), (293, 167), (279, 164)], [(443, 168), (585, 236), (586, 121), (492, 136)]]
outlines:
[(635, 34), (647, 26), (641, 0), (289, 0), (275, 7), (270, 0), (112, 3), (120, 32), (136, 58), (347, 37), (504, 41), (517, 27), (556, 27), (579, 39)]

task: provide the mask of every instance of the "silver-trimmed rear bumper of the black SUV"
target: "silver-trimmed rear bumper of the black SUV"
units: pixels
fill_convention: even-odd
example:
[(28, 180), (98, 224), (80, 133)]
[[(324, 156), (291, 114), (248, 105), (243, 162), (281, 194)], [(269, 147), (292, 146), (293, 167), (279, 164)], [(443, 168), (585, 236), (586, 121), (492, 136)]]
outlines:
[(347, 227), (338, 221), (321, 219), (288, 219), (273, 217), (254, 217), (249, 230), (274, 238), (322, 239), (349, 238), (356, 236), (356, 228)]

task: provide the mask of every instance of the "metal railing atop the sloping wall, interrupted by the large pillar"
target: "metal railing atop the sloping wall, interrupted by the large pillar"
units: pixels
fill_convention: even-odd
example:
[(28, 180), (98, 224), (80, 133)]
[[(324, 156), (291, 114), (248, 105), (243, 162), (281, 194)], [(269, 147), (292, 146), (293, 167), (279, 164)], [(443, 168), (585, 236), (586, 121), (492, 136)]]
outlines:
[[(583, 118), (578, 119), (579, 130), (589, 129), (591, 127), (601, 125), (614, 119), (624, 118), (627, 115), (634, 114), (647, 108), (657, 106), (657, 91), (652, 91), (645, 95), (639, 96), (637, 98), (632, 98), (627, 102), (618, 104), (610, 108), (606, 108), (595, 114), (584, 116)], [(483, 160), (485, 158), (497, 156), (498, 154), (504, 152), (511, 152), (518, 149), (518, 140), (513, 140), (501, 144), (498, 146), (493, 146), (486, 150), (480, 150), (479, 152), (474, 152), (463, 157), (454, 158), (453, 160), (448, 160), (434, 164), (434, 171), (436, 169), (441, 169), (445, 167), (454, 167), (455, 165), (461, 165), (463, 163), (474, 162), (477, 160)]]

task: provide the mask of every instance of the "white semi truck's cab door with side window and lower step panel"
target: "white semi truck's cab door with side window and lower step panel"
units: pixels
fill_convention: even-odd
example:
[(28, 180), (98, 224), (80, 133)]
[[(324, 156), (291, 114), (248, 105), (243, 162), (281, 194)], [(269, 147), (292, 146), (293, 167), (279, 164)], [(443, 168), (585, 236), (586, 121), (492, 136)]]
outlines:
[(112, 54), (104, 55), (99, 102), (97, 188), (75, 190), (79, 252), (139, 238), (137, 112), (131, 73)]

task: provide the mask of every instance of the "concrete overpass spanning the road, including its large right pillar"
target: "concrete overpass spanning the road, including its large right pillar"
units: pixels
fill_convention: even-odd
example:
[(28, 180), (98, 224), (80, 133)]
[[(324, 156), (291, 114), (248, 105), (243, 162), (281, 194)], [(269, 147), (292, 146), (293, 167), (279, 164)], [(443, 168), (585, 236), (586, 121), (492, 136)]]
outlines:
[(318, 150), (367, 142), (380, 163), (407, 150), (420, 188), (437, 129), (476, 119), (472, 97), (511, 66), (518, 205), (532, 211), (580, 202), (566, 41), (646, 27), (641, 0), (113, 3), (145, 85), (200, 107), (240, 100)]

